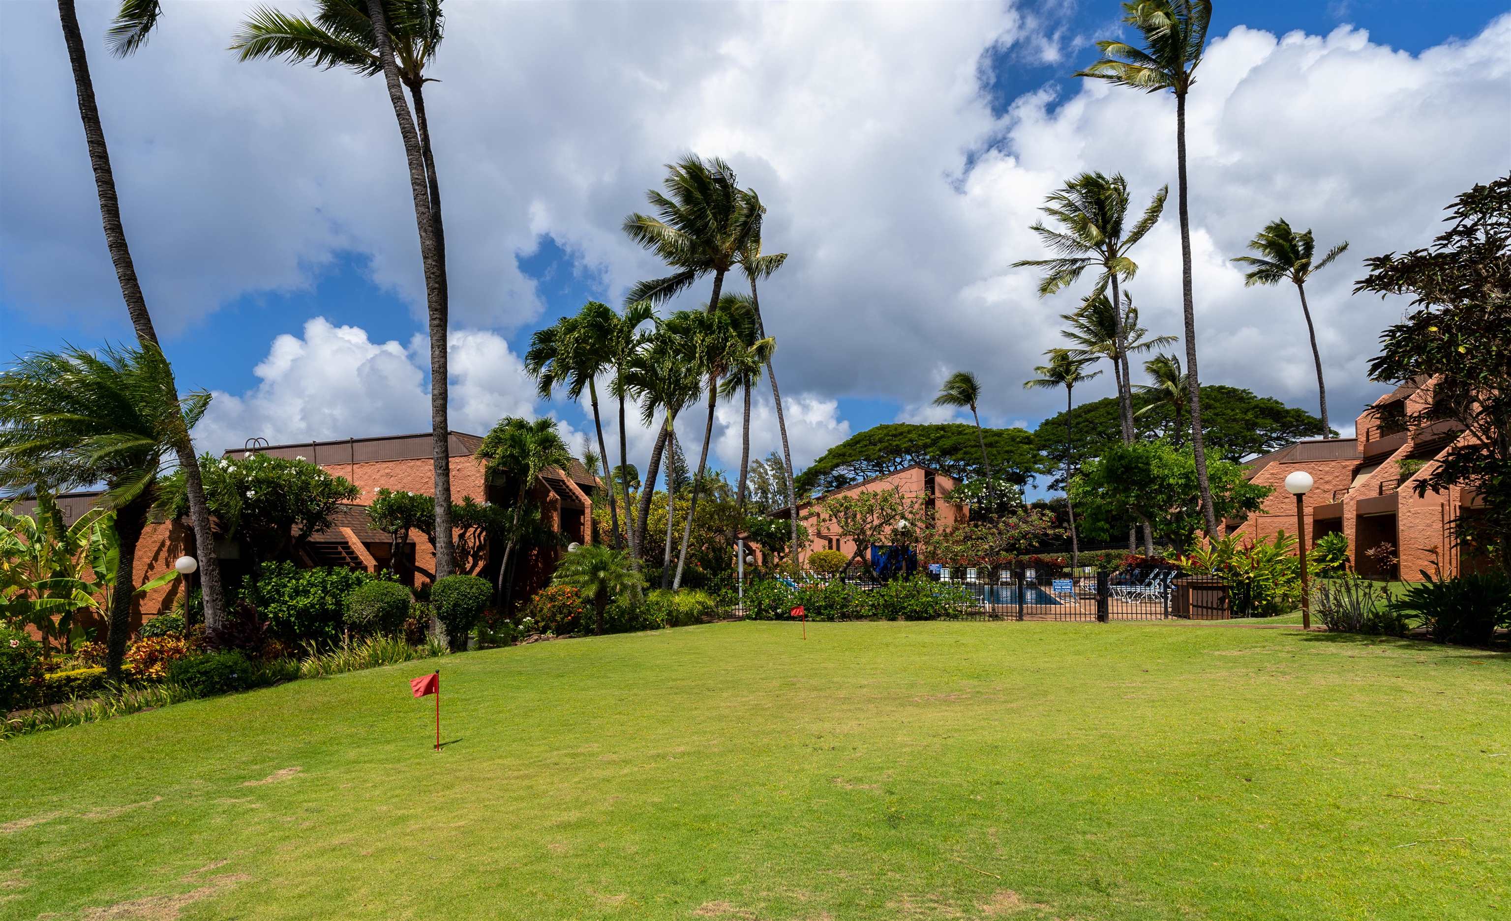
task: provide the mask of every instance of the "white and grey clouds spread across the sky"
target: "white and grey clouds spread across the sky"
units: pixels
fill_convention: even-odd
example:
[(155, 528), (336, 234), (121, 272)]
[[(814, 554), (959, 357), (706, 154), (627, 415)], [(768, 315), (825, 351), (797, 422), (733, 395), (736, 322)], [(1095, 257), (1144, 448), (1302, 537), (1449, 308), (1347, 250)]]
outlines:
[[(116, 60), (100, 42), (110, 6), (80, 8), (127, 229), (160, 326), (181, 332), (249, 291), (308, 285), (343, 249), (370, 255), (373, 281), (419, 317), (414, 214), (381, 83), (237, 63), (224, 45), (248, 9), (175, 5), (141, 53)], [(477, 337), (527, 329), (541, 297), (517, 257), (542, 234), (618, 299), (657, 272), (620, 233), (624, 214), (642, 207), (662, 163), (719, 154), (771, 208), (768, 249), (790, 254), (762, 306), (781, 343), (781, 380), (811, 400), (811, 450), (842, 430), (822, 409), (828, 402), (920, 408), (941, 367), (981, 376), (985, 420), (1056, 412), (1053, 394), (1023, 391), (1021, 380), (1059, 344), (1058, 314), (1074, 299), (1040, 300), (1032, 275), (1008, 266), (1041, 254), (1027, 225), (1044, 195), (1082, 169), (1123, 172), (1139, 201), (1162, 184), (1174, 190), (1174, 103), (1083, 83), (993, 115), (981, 85), (987, 56), (1014, 47), (1050, 60), (1064, 45), (1058, 18), (1031, 20), (997, 2), (450, 8), (441, 82), (426, 101), (453, 322)], [(57, 23), (47, 5), (8, 3), (0, 26), (9, 39), (0, 297), (88, 328), (115, 317), (119, 296)], [(1352, 243), (1309, 296), (1334, 412), (1346, 421), (1378, 396), (1364, 367), (1401, 308), (1351, 297), (1351, 284), (1364, 257), (1425, 243), (1457, 192), (1505, 171), (1508, 77), (1511, 15), (1416, 56), (1351, 27), (1275, 36), (1239, 26), (1215, 36), (1188, 113), (1203, 379), (1312, 403), (1293, 291), (1244, 288), (1228, 261), (1284, 216), (1315, 228), (1322, 245)], [(1174, 198), (1135, 258), (1129, 287), (1145, 326), (1179, 332)], [(340, 390), (349, 383), (299, 356), (286, 376), (272, 373), (280, 347), (311, 347), (308, 329), (290, 338), (278, 340), (263, 383), (237, 403), (222, 400), (216, 418), (248, 414), (236, 432), (337, 432), (337, 415), (348, 426), (425, 427), (422, 385), (408, 376), (423, 361), (411, 355), (405, 370), (391, 343), (332, 334), (328, 352), (351, 374), (394, 394), (335, 409), (319, 402), (355, 399)], [(515, 371), (493, 362), (505, 353), (502, 340), (465, 343), (458, 361), (474, 361), (474, 383), (455, 400), (464, 418), (527, 402)], [(289, 383), (295, 368), (335, 390), (301, 396)], [(1108, 393), (1103, 379), (1085, 397)], [(272, 406), (292, 415), (263, 411)], [(716, 450), (727, 459), (724, 441)]]

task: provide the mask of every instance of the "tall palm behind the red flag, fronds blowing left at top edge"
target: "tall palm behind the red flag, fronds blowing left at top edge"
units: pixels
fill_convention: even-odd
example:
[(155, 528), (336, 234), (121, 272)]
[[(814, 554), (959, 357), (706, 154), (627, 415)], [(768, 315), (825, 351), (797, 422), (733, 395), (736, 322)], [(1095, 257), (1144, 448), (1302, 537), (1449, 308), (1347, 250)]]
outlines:
[[(425, 115), (425, 66), (443, 36), (441, 0), (319, 0), (314, 20), (258, 8), (231, 39), (242, 60), (283, 57), (320, 68), (343, 66), (363, 77), (384, 75), (388, 101), (409, 166), (409, 195), (420, 237), (425, 300), (431, 334), (431, 450), (435, 470), (435, 577), (450, 575), (452, 468), (447, 423), (446, 231), (441, 186)], [(414, 112), (405, 101), (408, 88)], [(416, 127), (419, 124), (419, 128)]]

